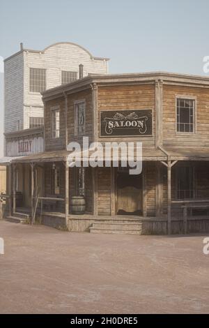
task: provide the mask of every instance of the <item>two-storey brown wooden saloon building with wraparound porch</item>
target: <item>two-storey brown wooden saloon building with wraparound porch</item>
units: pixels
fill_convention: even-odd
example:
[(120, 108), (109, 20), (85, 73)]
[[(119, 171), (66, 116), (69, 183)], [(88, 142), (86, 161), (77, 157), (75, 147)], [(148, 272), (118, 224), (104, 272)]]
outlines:
[[(13, 216), (20, 214), (15, 171), (30, 166), (29, 213), (44, 224), (136, 234), (209, 230), (207, 77), (88, 75), (48, 89), (42, 99), (45, 151), (12, 162)], [(82, 144), (84, 136), (89, 142), (142, 142), (141, 174), (130, 175), (120, 161), (114, 167), (111, 156), (110, 167), (85, 167), (84, 149), (82, 167), (68, 167), (69, 142)], [(75, 214), (78, 195), (86, 202), (82, 214)]]

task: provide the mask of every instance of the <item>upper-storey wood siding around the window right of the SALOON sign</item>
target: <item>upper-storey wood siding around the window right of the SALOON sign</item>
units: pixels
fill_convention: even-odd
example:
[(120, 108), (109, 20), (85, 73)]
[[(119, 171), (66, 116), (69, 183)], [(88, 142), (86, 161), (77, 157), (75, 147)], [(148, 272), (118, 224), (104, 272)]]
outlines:
[[(196, 133), (176, 132), (176, 96), (196, 97)], [(162, 133), (164, 146), (209, 146), (209, 89), (163, 85)]]

